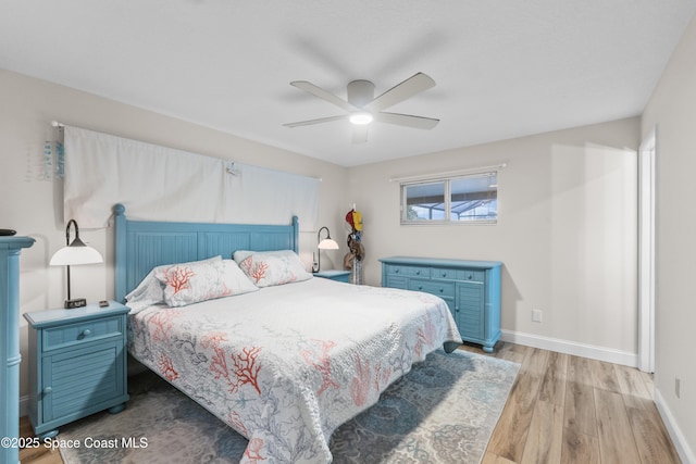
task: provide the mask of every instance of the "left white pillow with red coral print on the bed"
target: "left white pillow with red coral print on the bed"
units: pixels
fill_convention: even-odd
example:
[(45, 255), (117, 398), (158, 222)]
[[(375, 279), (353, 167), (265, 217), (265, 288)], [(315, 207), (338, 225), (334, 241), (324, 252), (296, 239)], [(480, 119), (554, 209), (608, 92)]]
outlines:
[(164, 287), (164, 302), (173, 308), (253, 290), (239, 284), (238, 274), (221, 256), (158, 266), (154, 277)]

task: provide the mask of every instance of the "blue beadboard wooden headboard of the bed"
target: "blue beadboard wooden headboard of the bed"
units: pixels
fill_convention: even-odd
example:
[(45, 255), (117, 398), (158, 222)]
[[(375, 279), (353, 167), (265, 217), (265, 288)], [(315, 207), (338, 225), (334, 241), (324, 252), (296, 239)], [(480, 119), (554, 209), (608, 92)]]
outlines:
[(113, 206), (115, 222), (115, 298), (125, 297), (154, 267), (222, 255), (236, 250), (298, 251), (299, 223), (288, 225), (206, 224), (129, 221), (125, 206)]

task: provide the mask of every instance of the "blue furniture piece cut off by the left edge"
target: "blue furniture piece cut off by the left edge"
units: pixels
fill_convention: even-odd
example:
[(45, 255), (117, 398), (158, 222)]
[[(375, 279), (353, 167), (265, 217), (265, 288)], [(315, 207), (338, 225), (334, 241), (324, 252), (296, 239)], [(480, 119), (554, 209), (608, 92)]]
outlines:
[[(0, 437), (20, 437), (20, 253), (30, 237), (0, 237)], [(4, 442), (3, 442), (4, 443)], [(13, 444), (13, 443), (10, 443)], [(20, 447), (0, 447), (0, 462), (18, 463)]]

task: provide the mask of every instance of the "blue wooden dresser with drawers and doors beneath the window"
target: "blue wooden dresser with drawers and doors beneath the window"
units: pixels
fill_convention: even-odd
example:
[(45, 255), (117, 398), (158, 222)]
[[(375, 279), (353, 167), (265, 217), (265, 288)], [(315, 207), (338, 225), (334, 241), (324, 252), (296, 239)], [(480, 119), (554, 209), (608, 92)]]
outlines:
[(383, 258), (382, 286), (424, 291), (447, 302), (464, 341), (493, 352), (500, 338), (498, 261)]

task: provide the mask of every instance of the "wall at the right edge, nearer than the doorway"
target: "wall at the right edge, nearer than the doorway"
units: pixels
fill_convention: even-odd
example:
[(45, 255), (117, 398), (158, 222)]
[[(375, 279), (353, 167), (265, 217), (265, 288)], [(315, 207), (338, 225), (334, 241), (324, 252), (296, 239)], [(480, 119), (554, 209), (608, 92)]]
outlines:
[[(657, 127), (656, 401), (680, 438), (682, 459), (696, 463), (696, 18), (662, 73), (642, 121)], [(675, 380), (681, 380), (678, 398)]]

